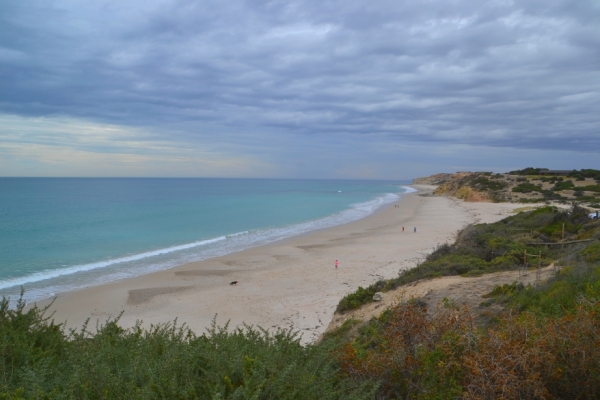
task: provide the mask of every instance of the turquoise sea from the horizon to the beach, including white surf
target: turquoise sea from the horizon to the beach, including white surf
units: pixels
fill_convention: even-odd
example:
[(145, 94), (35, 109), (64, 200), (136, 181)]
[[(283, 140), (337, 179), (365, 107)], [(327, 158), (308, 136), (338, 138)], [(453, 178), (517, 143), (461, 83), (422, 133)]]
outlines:
[(0, 295), (28, 301), (354, 221), (408, 182), (0, 178)]

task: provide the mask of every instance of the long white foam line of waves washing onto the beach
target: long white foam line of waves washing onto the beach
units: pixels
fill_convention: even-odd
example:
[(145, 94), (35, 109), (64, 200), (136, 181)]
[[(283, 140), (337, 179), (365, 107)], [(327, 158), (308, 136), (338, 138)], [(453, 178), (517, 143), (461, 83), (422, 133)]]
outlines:
[[(405, 193), (415, 191), (410, 187), (403, 186), (402, 188)], [(0, 290), (26, 286), (27, 300), (36, 301), (53, 296), (54, 293), (139, 276), (187, 262), (219, 257), (310, 231), (356, 221), (374, 213), (386, 204), (397, 201), (399, 197), (397, 194), (387, 193), (373, 200), (354, 204), (349, 209), (317, 220), (282, 227), (237, 232), (131, 256), (0, 280)], [(60, 280), (56, 278), (60, 278)]]

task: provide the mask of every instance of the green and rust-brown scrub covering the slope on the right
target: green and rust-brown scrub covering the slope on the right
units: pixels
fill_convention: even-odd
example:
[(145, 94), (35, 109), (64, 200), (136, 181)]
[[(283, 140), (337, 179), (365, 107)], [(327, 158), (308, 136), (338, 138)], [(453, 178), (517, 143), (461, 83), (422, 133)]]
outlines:
[[(535, 252), (527, 244), (556, 243), (563, 223), (574, 243)], [(350, 320), (353, 330), (342, 325), (329, 335), (344, 342), (337, 353), (342, 371), (378, 381), (386, 399), (600, 397), (600, 222), (579, 207), (544, 207), (469, 227), (454, 245), (438, 247), (396, 279), (359, 289), (339, 309), (360, 307), (373, 301), (367, 294), (398, 283), (520, 268), (524, 252), (540, 248), (543, 264), (555, 262), (559, 273), (537, 285), (496, 286), (480, 307), (499, 304), (505, 311), (486, 326), (476, 323), (482, 310), (449, 299), (430, 308), (412, 299), (370, 321)]]

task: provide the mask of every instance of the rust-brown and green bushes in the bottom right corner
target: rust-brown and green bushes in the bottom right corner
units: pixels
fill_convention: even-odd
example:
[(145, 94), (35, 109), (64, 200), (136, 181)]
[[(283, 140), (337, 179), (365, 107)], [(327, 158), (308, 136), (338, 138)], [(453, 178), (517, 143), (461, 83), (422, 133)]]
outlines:
[(357, 382), (380, 381), (379, 398), (595, 399), (600, 397), (598, 303), (561, 317), (507, 314), (488, 331), (467, 310), (434, 313), (405, 303), (377, 341), (346, 344), (337, 357)]

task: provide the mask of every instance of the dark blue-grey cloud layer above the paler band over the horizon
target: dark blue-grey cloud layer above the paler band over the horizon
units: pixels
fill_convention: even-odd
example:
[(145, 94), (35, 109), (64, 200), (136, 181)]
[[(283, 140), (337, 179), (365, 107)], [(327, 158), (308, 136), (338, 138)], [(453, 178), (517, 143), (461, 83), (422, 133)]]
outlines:
[(593, 1), (0, 7), (4, 113), (174, 127), (174, 140), (600, 150)]

